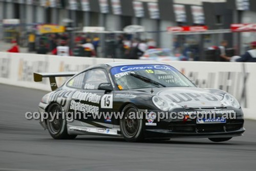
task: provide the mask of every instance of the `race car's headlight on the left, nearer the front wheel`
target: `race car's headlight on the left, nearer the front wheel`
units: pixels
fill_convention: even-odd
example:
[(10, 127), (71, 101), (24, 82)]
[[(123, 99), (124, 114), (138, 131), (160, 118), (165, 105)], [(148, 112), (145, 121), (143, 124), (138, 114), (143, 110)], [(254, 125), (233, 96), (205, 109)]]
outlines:
[(168, 111), (180, 107), (177, 103), (165, 100), (160, 96), (153, 96), (152, 101), (156, 107), (163, 111)]

